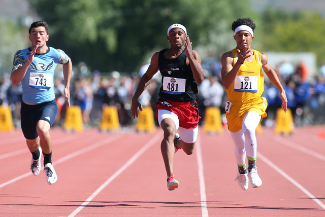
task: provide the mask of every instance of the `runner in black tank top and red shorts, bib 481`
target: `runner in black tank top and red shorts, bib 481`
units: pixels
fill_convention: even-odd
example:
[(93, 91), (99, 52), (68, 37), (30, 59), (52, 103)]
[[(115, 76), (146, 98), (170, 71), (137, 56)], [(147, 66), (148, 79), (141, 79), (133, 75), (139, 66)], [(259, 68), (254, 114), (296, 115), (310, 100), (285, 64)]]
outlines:
[[(142, 111), (138, 98), (150, 84), (153, 75), (160, 70), (162, 85), (156, 117), (164, 131), (160, 149), (168, 176), (167, 187), (171, 191), (179, 186), (173, 173), (175, 150), (182, 149), (191, 155), (198, 137), (200, 117), (195, 99), (204, 73), (201, 57), (192, 49), (186, 28), (173, 24), (168, 28), (167, 35), (171, 47), (155, 52), (151, 57), (150, 65), (132, 98), (131, 112), (133, 118), (138, 117), (138, 109)], [(179, 134), (176, 130), (179, 130)]]

